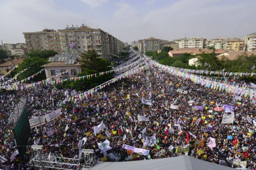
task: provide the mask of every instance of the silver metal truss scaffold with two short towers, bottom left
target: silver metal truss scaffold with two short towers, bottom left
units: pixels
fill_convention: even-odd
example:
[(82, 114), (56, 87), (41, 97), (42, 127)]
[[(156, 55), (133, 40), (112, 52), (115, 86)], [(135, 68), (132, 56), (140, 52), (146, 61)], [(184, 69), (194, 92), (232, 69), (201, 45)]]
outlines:
[[(62, 170), (77, 170), (87, 169), (96, 165), (94, 150), (83, 149), (83, 161), (74, 158), (64, 158), (53, 155), (46, 155), (41, 145), (31, 146), (32, 156), (29, 164), (33, 167), (41, 169), (62, 169)], [(83, 163), (80, 163), (83, 162)]]

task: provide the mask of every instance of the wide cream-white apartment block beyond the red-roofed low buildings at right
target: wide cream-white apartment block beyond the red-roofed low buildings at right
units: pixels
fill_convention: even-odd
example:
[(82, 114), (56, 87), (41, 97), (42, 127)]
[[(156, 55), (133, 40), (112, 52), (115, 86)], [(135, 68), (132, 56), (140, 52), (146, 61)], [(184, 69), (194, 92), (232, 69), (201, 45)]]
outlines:
[(191, 39), (180, 39), (179, 48), (205, 48), (205, 38), (192, 37)]

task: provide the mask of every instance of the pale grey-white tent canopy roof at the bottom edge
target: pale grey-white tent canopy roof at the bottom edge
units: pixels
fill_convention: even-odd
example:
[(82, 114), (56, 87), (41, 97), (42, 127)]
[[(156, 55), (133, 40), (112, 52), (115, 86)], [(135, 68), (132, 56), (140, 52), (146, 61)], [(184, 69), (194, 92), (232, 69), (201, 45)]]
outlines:
[(90, 170), (234, 170), (191, 156), (178, 156), (144, 161), (98, 162)]

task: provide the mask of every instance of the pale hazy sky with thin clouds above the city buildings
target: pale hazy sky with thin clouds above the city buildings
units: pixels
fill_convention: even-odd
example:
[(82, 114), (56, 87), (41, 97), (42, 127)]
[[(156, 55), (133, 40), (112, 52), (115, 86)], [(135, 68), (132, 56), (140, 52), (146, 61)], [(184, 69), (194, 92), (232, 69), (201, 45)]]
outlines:
[(0, 0), (0, 39), (85, 23), (123, 42), (150, 36), (242, 38), (256, 32), (256, 0)]

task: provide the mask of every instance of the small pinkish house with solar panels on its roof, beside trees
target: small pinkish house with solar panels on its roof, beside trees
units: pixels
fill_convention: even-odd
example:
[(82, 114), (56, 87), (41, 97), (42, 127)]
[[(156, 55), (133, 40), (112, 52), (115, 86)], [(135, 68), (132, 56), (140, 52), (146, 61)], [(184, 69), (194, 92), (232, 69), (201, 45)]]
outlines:
[[(44, 67), (46, 78), (52, 77), (52, 80), (59, 80), (64, 78), (76, 77), (78, 73), (81, 73), (81, 64), (77, 62), (78, 54), (56, 54), (54, 57), (50, 57), (48, 64), (42, 65)], [(66, 74), (59, 73), (68, 71)]]

